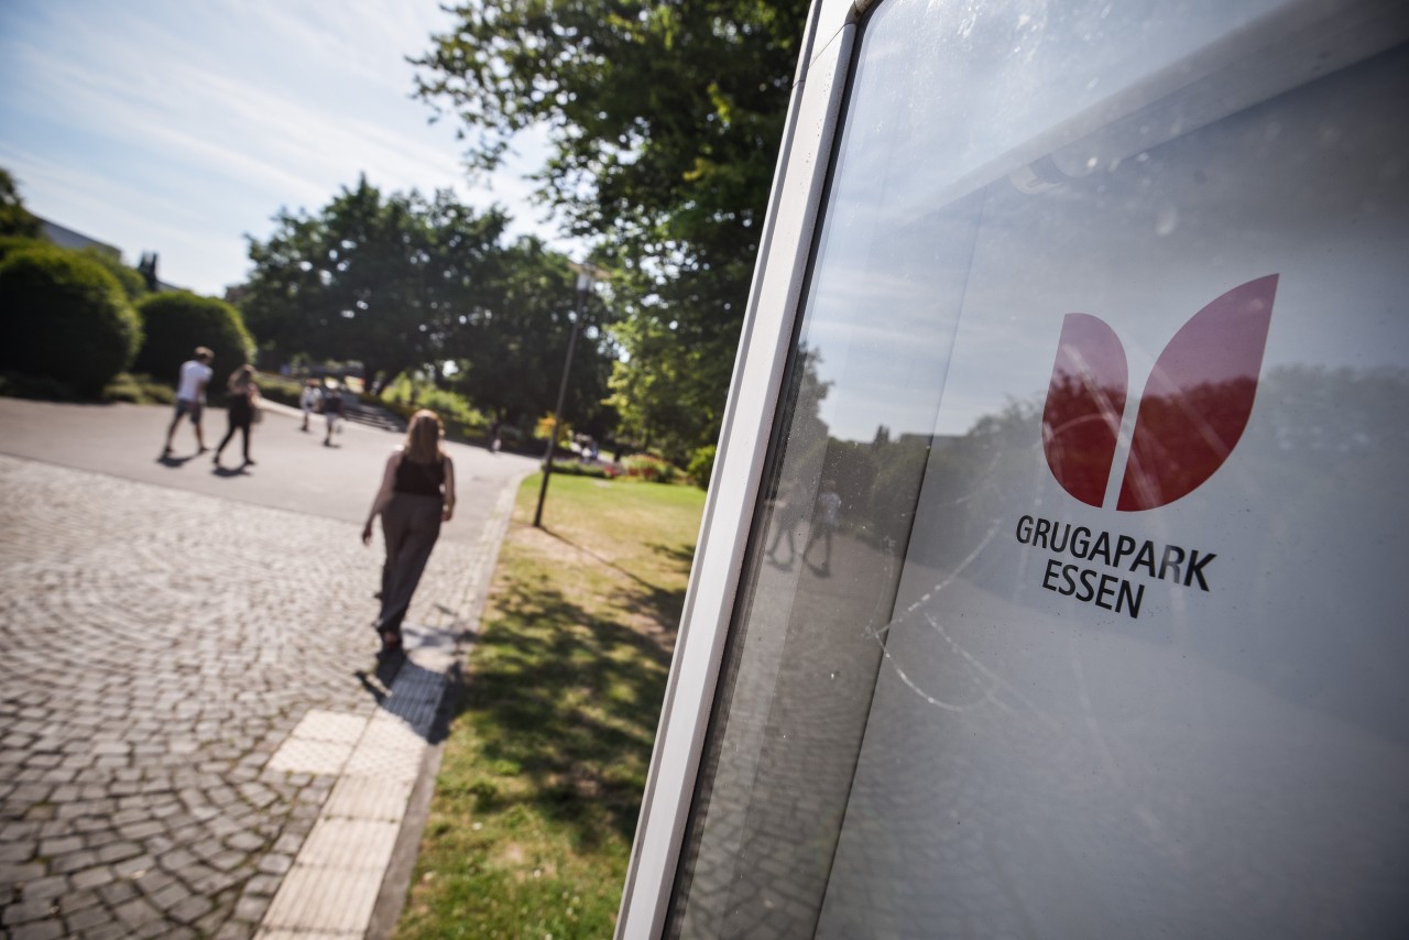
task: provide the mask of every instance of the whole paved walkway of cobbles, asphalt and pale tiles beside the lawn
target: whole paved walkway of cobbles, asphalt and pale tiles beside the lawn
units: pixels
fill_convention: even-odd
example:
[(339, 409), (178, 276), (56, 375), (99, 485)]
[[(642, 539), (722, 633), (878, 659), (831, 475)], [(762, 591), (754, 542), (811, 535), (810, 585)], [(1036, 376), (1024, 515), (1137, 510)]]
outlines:
[(533, 462), (454, 448), (461, 512), (387, 685), (358, 531), (396, 437), (321, 448), (271, 413), (223, 475), (158, 462), (165, 419), (0, 399), (0, 930), (380, 934)]

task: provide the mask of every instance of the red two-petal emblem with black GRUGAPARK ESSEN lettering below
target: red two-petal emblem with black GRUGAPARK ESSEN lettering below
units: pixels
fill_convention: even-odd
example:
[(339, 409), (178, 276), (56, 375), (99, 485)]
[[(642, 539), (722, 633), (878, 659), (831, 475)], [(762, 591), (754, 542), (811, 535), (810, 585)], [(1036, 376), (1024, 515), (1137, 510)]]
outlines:
[[(1248, 280), (1217, 297), (1160, 354), (1140, 397), (1116, 512), (1158, 509), (1188, 496), (1237, 447), (1253, 413), (1277, 279)], [(1116, 331), (1099, 317), (1067, 314), (1043, 410), (1043, 451), (1062, 489), (1088, 506), (1105, 506), (1127, 390), (1126, 351)], [(1055, 555), (1044, 568), (1043, 588), (1131, 617), (1140, 616), (1144, 585), (1124, 575), (1208, 590), (1205, 569), (1217, 557), (1033, 516), (1019, 520), (1016, 534), (1019, 543)]]

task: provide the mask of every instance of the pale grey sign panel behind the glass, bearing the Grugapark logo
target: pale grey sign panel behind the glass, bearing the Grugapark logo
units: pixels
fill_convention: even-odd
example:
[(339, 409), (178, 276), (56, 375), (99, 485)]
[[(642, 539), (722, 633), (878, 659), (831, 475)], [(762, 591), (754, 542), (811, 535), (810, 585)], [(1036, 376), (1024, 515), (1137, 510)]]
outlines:
[(817, 936), (1409, 930), (1406, 94), (983, 187)]

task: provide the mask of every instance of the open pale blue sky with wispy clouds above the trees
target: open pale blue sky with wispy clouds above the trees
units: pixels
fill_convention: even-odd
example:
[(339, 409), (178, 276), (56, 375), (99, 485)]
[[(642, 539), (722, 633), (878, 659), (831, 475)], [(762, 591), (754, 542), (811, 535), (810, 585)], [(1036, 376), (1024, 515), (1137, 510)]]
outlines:
[(571, 249), (528, 202), (541, 149), (472, 185), (454, 118), (410, 97), (406, 56), (452, 21), (437, 0), (0, 0), (0, 166), (34, 214), (214, 296), (245, 279), (245, 235), (359, 173), (497, 202)]

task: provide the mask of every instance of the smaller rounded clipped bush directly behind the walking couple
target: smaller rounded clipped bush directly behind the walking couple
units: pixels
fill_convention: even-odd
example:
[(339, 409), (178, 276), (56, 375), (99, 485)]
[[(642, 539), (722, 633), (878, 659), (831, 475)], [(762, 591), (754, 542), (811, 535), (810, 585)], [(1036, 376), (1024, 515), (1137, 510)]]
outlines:
[(155, 376), (176, 378), (180, 364), (196, 347), (214, 354), (216, 378), (211, 389), (224, 388), (224, 376), (254, 358), (254, 340), (240, 311), (224, 300), (201, 297), (187, 290), (163, 290), (137, 304), (147, 341), (134, 368)]

